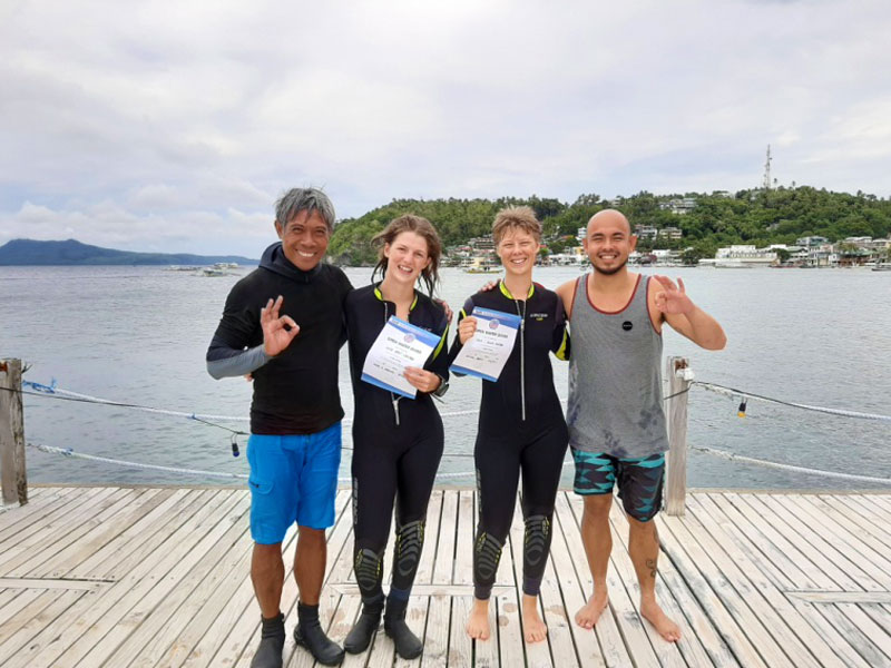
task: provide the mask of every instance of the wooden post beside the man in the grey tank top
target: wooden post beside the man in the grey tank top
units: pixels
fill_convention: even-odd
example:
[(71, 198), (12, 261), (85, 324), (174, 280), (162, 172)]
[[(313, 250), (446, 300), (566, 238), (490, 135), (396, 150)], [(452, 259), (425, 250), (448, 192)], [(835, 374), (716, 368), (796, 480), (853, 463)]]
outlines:
[(686, 357), (668, 357), (665, 361), (668, 394), (665, 406), (668, 418), (668, 471), (665, 483), (665, 511), (682, 515), (687, 495), (687, 390), (693, 382), (693, 370)]

